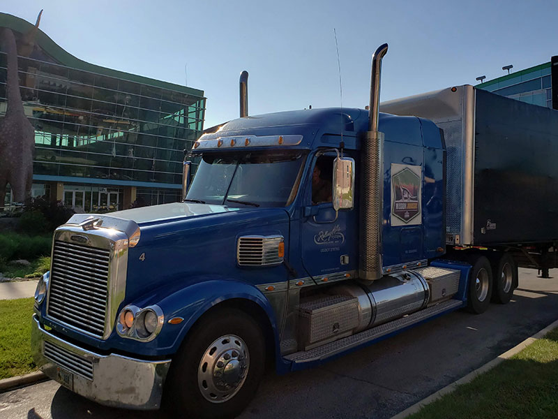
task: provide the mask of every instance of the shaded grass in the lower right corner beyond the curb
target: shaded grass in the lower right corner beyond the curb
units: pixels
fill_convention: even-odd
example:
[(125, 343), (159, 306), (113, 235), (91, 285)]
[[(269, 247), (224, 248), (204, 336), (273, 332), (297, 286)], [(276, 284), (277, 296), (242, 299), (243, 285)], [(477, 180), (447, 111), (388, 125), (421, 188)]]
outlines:
[(558, 328), (410, 418), (558, 418)]

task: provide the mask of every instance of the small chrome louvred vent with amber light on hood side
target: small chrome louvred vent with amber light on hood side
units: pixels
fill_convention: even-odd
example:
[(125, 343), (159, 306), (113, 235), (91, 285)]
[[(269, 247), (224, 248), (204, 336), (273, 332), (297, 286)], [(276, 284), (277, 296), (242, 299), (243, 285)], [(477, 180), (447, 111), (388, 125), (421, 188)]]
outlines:
[(285, 239), (282, 235), (239, 238), (236, 258), (241, 266), (278, 265), (283, 261)]

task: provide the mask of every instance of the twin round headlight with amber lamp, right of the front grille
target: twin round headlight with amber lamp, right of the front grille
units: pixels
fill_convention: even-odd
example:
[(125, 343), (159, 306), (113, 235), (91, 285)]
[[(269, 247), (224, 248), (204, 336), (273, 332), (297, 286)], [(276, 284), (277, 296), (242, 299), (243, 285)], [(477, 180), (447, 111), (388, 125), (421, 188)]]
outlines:
[(116, 331), (121, 337), (140, 341), (151, 341), (159, 334), (165, 316), (158, 305), (144, 309), (135, 306), (124, 307), (116, 324)]

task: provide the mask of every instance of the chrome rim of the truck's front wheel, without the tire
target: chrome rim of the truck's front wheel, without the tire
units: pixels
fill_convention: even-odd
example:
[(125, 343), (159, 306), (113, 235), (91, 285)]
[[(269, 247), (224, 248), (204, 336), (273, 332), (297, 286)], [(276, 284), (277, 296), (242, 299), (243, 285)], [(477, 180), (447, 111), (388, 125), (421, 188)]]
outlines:
[(222, 336), (209, 345), (199, 362), (199, 391), (209, 402), (226, 402), (241, 389), (249, 367), (246, 343), (236, 335)]

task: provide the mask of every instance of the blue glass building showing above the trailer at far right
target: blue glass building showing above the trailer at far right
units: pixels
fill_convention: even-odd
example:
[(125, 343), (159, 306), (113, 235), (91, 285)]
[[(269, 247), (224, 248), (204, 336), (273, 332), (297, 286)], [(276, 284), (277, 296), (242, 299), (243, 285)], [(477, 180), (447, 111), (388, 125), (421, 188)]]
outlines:
[(492, 91), (518, 101), (552, 108), (551, 62), (506, 74), (478, 84), (476, 88)]

